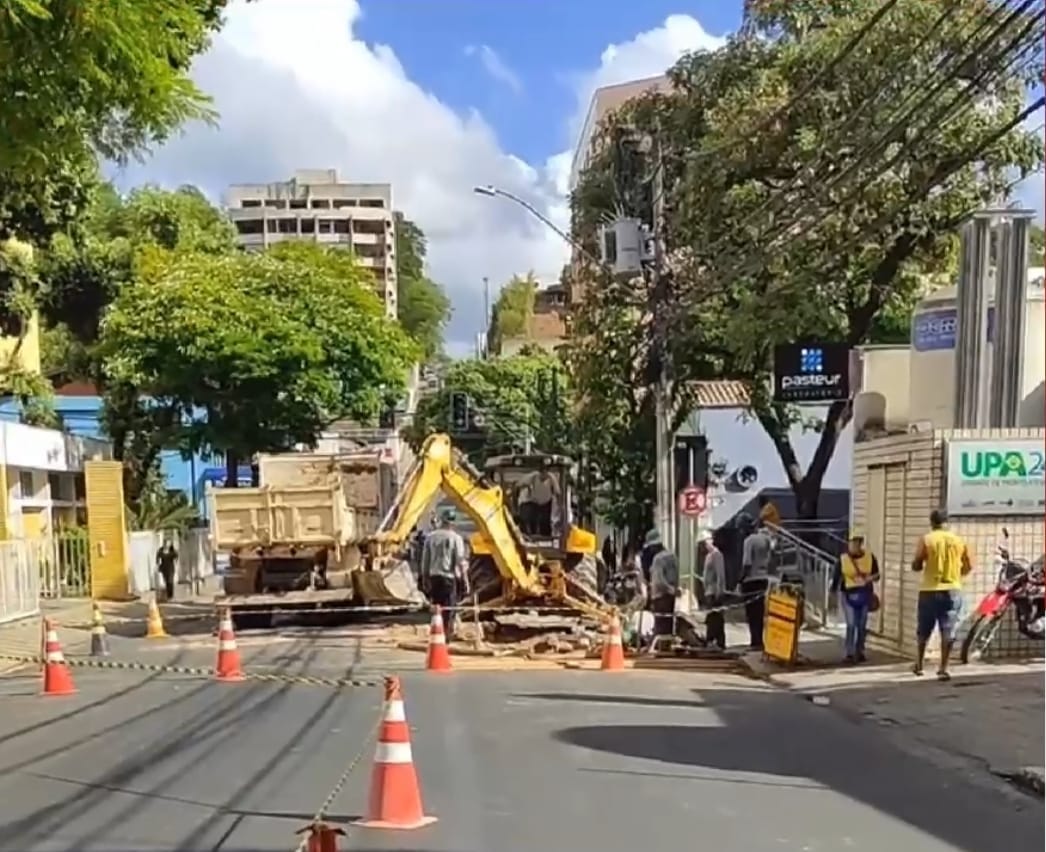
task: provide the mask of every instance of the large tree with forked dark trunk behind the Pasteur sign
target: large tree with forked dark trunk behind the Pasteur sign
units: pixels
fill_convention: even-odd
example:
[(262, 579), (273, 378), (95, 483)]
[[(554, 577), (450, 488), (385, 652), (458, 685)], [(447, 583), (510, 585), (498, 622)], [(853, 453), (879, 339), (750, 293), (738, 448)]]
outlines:
[[(1008, 191), (1015, 171), (1041, 165), (1041, 141), (1021, 122), (1041, 106), (1026, 96), (1042, 24), (981, 0), (761, 0), (748, 14), (747, 36), (684, 57), (673, 91), (616, 114), (607, 155), (575, 194), (574, 227), (591, 244), (615, 209), (649, 215), (658, 145), (642, 142), (657, 140), (676, 404), (691, 379), (748, 383), (752, 414), (812, 515), (851, 410), (828, 408), (804, 467), (789, 438), (801, 413), (768, 396), (773, 346), (867, 342), (877, 318), (904, 316), (948, 264), (957, 225)], [(986, 14), (998, 26), (971, 41)], [(620, 321), (649, 322), (638, 290), (616, 289), (615, 305), (635, 310)], [(589, 327), (614, 321), (600, 309)], [(598, 336), (585, 345), (598, 363)]]

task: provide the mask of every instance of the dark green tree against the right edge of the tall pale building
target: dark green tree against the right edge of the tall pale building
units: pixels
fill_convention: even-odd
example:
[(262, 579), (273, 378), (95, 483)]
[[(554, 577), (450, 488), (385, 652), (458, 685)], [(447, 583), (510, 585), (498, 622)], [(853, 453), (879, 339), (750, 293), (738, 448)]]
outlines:
[(399, 212), (395, 214), (395, 253), (400, 324), (417, 343), (425, 363), (429, 363), (442, 351), (451, 301), (444, 289), (425, 274), (428, 253), (425, 234)]

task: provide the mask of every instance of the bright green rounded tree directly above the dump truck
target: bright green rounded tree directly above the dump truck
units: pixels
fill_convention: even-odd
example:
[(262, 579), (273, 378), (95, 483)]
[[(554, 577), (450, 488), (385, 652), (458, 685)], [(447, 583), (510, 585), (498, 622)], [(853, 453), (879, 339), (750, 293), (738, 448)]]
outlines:
[(349, 255), (154, 247), (136, 268), (104, 322), (106, 375), (179, 412), (183, 446), (223, 453), (227, 485), (254, 453), (313, 443), (403, 391), (416, 352)]

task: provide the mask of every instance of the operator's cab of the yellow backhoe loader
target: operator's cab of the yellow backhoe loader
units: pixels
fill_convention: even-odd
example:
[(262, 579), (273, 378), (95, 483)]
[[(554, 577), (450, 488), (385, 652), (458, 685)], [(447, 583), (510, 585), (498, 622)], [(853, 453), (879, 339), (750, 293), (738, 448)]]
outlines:
[(573, 526), (573, 467), (567, 456), (550, 453), (495, 456), (486, 461), (486, 479), (501, 488), (527, 543), (550, 558), (595, 550), (595, 536)]

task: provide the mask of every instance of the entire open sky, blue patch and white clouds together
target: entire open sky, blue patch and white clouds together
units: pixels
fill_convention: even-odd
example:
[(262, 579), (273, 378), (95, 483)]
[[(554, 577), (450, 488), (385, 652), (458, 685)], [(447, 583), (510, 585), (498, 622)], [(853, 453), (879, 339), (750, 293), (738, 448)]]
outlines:
[[(116, 177), (215, 199), (301, 168), (391, 183), (451, 297), (449, 348), (467, 353), (485, 325), (484, 278), (495, 290), (527, 272), (553, 281), (569, 255), (522, 209), (472, 188), (499, 186), (567, 228), (592, 92), (714, 48), (741, 11), (742, 0), (232, 0), (194, 68), (218, 124), (186, 128)], [(1041, 181), (1030, 199), (1041, 210)]]

